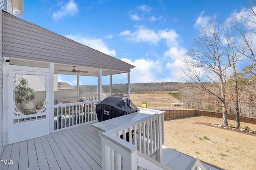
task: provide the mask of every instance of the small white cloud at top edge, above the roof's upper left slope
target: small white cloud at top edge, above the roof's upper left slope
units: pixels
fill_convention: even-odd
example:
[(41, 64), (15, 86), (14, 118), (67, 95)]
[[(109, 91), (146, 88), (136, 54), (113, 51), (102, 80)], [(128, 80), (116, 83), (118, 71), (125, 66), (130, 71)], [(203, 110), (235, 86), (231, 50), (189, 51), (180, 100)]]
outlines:
[(73, 0), (70, 0), (67, 4), (61, 6), (61, 9), (58, 12), (54, 12), (52, 18), (54, 20), (59, 20), (64, 16), (75, 16), (76, 14), (78, 14), (77, 4)]

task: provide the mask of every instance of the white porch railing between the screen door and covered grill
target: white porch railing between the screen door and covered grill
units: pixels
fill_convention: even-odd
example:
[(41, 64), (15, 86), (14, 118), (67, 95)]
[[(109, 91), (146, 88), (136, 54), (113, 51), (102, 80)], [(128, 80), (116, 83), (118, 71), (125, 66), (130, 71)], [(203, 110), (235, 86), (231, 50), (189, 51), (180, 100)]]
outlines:
[(75, 125), (97, 121), (96, 104), (99, 101), (56, 104), (54, 110), (54, 130), (64, 130)]

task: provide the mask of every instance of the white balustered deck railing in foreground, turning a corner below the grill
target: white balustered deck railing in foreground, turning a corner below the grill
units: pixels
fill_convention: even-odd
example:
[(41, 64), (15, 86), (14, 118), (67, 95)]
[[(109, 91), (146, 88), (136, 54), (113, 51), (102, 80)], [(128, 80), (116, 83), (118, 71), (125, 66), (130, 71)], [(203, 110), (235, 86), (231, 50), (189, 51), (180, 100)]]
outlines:
[(149, 115), (129, 126), (102, 133), (102, 169), (137, 169), (140, 165), (137, 150), (161, 163), (164, 113)]

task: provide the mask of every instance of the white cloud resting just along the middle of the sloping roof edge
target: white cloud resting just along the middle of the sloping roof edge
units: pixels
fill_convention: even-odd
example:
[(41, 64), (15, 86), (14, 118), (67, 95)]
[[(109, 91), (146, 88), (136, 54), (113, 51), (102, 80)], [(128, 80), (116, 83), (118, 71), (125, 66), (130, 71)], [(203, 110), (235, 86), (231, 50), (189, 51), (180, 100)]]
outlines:
[(111, 55), (111, 56), (116, 55), (116, 51), (114, 49), (112, 49), (112, 50), (108, 49), (107, 45), (101, 39), (88, 39), (88, 38), (82, 37), (80, 35), (67, 35), (66, 37), (69, 39), (72, 39), (78, 43), (81, 43), (83, 45), (86, 45), (88, 47), (96, 49), (96, 50), (98, 50), (102, 53), (105, 53), (107, 55)]

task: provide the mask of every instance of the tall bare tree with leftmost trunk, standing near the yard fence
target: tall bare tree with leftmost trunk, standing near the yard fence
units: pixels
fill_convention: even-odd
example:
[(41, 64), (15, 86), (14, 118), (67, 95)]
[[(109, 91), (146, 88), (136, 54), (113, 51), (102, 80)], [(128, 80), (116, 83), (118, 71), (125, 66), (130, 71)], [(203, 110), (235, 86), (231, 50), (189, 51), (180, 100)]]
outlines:
[(200, 89), (208, 102), (222, 107), (222, 125), (227, 126), (225, 84), (230, 64), (223, 33), (223, 27), (215, 22), (201, 27), (200, 34), (194, 38), (194, 47), (189, 49), (188, 57), (182, 59), (185, 69), (181, 77)]

